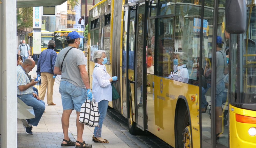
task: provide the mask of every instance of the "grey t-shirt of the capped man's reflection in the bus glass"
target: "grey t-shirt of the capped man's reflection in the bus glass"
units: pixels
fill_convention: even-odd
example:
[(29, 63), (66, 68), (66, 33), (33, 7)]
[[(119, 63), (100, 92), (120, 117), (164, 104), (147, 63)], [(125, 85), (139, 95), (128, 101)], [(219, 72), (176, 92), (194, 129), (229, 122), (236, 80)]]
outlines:
[(216, 51), (216, 84), (224, 81), (224, 68), (227, 68), (226, 54), (223, 51)]

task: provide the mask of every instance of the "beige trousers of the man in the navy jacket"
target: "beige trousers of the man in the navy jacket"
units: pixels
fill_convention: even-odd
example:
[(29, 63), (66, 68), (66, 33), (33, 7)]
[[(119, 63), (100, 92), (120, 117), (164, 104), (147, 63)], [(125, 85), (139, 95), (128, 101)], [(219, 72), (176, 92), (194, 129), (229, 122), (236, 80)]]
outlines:
[(55, 79), (52, 78), (53, 74), (41, 72), (41, 88), (39, 90), (39, 98), (44, 99), (47, 88), (47, 104), (52, 104), (53, 85)]

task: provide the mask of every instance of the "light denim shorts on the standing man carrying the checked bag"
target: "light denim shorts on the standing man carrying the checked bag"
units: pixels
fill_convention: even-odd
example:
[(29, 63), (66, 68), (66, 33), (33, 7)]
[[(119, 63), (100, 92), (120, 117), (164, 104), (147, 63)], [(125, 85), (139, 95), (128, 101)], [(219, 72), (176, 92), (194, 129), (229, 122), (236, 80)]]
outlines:
[(67, 81), (59, 85), (63, 110), (74, 109), (80, 111), (82, 104), (87, 99), (86, 89), (75, 86)]

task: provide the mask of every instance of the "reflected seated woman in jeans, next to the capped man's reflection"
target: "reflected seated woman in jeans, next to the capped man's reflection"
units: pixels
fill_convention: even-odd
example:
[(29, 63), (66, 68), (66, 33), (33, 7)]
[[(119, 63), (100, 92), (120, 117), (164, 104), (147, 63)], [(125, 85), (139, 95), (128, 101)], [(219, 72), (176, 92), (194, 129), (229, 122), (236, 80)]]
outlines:
[(204, 70), (204, 76), (207, 83), (207, 88), (202, 87), (202, 113), (206, 112), (207, 106), (209, 103), (206, 101), (205, 94), (208, 91), (208, 89), (211, 87), (211, 81), (212, 81), (212, 58), (205, 58), (206, 64), (205, 64), (205, 70)]

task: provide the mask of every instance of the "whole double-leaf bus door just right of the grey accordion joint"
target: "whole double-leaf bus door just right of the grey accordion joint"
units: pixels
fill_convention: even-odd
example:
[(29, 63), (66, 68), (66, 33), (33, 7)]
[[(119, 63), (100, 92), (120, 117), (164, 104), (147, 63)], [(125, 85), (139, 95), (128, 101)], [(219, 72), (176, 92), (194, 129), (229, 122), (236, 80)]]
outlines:
[[(132, 134), (147, 129), (146, 120), (146, 30), (147, 4), (124, 6), (123, 112)], [(127, 45), (127, 46), (126, 46)]]

